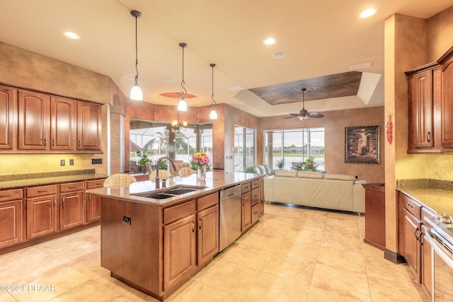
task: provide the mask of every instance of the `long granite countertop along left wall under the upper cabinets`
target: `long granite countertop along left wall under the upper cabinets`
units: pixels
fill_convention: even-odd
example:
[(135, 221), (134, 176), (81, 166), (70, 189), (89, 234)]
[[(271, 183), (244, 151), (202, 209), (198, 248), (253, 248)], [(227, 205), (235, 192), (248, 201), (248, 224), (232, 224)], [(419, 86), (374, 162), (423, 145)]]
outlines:
[(21, 175), (0, 176), (0, 190), (14, 189), (21, 187), (32, 187), (36, 185), (52, 185), (62, 182), (76, 182), (82, 180), (96, 180), (107, 178), (108, 175), (96, 174), (94, 169), (62, 171), (55, 173), (31, 173)]

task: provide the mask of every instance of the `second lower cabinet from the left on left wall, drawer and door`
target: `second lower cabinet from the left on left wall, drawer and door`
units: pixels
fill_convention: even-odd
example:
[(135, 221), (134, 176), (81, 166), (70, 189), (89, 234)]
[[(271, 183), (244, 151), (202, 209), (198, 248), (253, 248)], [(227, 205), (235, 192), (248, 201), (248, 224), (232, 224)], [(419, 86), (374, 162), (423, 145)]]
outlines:
[(57, 185), (28, 187), (27, 239), (57, 231)]

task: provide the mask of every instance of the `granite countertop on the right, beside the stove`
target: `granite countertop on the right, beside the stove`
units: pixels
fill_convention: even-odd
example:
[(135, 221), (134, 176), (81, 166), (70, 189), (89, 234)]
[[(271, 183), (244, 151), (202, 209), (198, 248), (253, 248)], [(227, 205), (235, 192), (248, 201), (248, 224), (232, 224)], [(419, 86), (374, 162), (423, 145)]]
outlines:
[(397, 190), (436, 213), (453, 216), (453, 185), (450, 180), (397, 180)]

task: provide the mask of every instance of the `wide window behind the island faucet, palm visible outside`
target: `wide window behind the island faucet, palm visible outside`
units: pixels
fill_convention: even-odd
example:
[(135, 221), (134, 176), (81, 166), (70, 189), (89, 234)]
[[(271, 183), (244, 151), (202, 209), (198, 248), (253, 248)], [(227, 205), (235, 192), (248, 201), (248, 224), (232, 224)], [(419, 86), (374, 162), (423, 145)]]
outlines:
[(139, 173), (137, 151), (146, 154), (153, 163), (161, 156), (190, 162), (198, 151), (207, 152), (212, 158), (212, 124), (188, 124), (187, 129), (174, 134), (174, 139), (170, 125), (169, 122), (130, 120), (131, 173)]

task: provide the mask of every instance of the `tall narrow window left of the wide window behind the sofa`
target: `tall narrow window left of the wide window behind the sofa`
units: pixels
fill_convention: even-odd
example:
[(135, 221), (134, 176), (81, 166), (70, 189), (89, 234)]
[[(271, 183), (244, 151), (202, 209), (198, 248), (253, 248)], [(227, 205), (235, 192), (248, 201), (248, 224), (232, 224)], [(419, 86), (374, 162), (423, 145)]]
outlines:
[(234, 127), (234, 170), (246, 171), (256, 161), (256, 130), (247, 127)]

